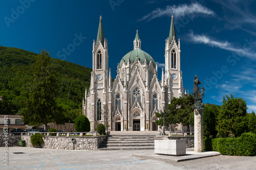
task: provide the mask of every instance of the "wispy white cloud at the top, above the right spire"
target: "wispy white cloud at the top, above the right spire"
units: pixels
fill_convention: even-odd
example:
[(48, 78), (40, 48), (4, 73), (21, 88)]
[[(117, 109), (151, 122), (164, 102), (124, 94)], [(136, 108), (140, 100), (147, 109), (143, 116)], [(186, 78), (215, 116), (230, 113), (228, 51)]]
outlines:
[(194, 18), (196, 15), (214, 15), (214, 11), (202, 6), (199, 3), (193, 3), (190, 5), (182, 4), (179, 6), (166, 6), (165, 9), (157, 8), (151, 13), (143, 16), (138, 21), (147, 20), (150, 21), (152, 19), (162, 17), (162, 16), (171, 16), (174, 15), (177, 19), (183, 16), (188, 16), (189, 18)]

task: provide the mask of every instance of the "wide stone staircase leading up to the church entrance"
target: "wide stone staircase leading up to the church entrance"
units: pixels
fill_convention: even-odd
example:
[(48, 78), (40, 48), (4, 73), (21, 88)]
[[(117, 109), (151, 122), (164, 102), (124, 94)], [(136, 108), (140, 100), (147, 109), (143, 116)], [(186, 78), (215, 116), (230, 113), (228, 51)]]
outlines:
[(161, 140), (158, 135), (112, 135), (108, 136), (100, 145), (98, 150), (153, 150), (155, 140)]

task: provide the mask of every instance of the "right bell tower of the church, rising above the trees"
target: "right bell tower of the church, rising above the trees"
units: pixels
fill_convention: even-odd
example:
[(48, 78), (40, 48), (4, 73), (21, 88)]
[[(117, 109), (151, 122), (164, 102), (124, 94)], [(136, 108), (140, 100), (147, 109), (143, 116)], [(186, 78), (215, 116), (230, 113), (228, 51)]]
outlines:
[(180, 53), (180, 39), (177, 41), (172, 15), (169, 37), (165, 40), (165, 87), (168, 103), (173, 97), (184, 96)]

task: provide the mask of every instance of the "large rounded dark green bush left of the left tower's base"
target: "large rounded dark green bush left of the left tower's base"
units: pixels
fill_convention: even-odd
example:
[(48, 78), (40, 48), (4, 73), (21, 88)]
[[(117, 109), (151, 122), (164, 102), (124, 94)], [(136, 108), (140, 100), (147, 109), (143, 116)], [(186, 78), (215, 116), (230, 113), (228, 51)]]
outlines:
[(85, 115), (80, 115), (75, 119), (75, 129), (77, 132), (90, 132), (90, 121)]

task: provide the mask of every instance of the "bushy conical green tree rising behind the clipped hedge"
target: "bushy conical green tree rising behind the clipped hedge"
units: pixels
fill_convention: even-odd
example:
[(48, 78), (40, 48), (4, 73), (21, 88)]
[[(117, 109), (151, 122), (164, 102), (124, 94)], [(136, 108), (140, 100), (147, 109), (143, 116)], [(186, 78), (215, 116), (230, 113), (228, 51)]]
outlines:
[(216, 130), (222, 137), (227, 137), (232, 133), (236, 137), (241, 136), (248, 130), (248, 117), (246, 116), (246, 102), (242, 98), (234, 98), (226, 95), (227, 99), (223, 99), (217, 118)]

